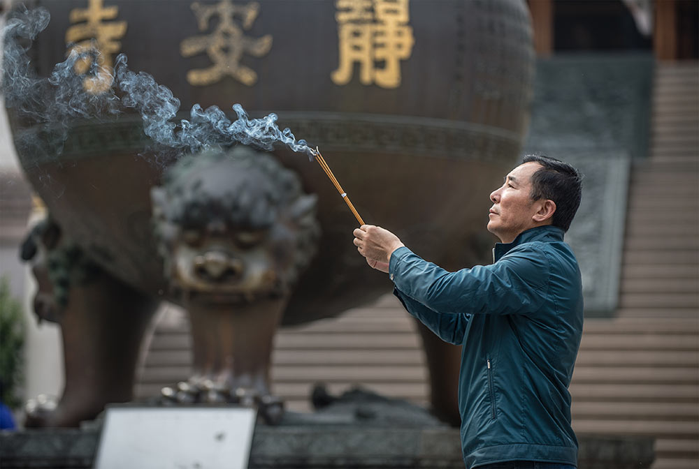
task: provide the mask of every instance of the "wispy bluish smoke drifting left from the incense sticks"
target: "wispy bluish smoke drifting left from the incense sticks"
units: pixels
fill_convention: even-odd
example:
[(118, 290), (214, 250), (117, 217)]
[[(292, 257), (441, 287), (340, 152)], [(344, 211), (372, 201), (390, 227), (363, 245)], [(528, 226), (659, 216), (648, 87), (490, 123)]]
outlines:
[[(271, 150), (275, 143), (286, 144), (293, 151), (304, 152), (309, 158), (315, 150), (305, 140), (296, 140), (289, 128), (280, 131), (277, 114), (261, 119), (250, 119), (240, 104), (233, 105), (238, 119), (231, 121), (217, 106), (202, 109), (192, 106), (189, 119), (175, 122), (180, 100), (172, 91), (158, 84), (152, 75), (134, 73), (127, 66), (127, 57), (119, 54), (114, 73), (100, 68), (95, 50), (70, 52), (65, 61), (57, 64), (50, 77), (36, 77), (27, 51), (36, 36), (48, 26), (50, 15), (43, 8), (24, 10), (8, 20), (3, 28), (3, 77), (0, 91), (7, 107), (39, 123), (64, 125), (62, 138), (67, 137), (67, 123), (71, 118), (101, 119), (136, 110), (143, 119), (143, 131), (154, 142), (183, 153), (196, 153), (212, 145), (242, 143), (259, 149)], [(87, 75), (110, 76), (112, 86), (100, 94), (85, 91), (85, 75), (74, 71), (75, 62), (85, 58), (92, 64)]]

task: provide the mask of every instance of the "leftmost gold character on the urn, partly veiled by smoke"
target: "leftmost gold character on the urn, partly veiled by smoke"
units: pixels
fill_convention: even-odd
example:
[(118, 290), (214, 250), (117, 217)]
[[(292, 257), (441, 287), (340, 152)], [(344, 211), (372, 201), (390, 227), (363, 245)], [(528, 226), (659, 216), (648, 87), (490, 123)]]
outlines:
[(96, 75), (85, 77), (82, 82), (82, 87), (88, 93), (100, 94), (112, 86), (112, 55), (122, 47), (117, 39), (126, 34), (127, 22), (104, 20), (113, 20), (117, 13), (119, 10), (116, 6), (103, 7), (103, 0), (88, 0), (87, 8), (71, 10), (71, 23), (79, 24), (66, 31), (66, 43), (75, 43), (70, 52), (75, 51), (82, 55), (73, 67), (75, 73), (85, 75), (93, 61), (89, 52), (95, 48), (95, 52), (98, 52), (96, 60), (99, 68)]

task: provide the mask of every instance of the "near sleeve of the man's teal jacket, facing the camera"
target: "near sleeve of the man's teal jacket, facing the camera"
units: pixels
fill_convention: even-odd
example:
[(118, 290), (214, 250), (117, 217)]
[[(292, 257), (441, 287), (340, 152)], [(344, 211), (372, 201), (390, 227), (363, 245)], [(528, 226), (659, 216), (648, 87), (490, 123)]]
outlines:
[(449, 272), (398, 248), (389, 274), (404, 295), (438, 314), (531, 313), (542, 306), (549, 261), (533, 243), (512, 248), (494, 264)]

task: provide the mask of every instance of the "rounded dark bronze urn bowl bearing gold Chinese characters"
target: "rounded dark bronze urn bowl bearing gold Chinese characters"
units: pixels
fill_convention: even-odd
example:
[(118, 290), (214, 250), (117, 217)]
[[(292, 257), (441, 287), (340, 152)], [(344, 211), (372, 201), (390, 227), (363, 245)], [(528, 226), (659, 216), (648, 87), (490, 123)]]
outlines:
[[(50, 13), (27, 50), (29, 72), (49, 77), (72, 50), (82, 55), (66, 70), (80, 89), (61, 103), (60, 79), (41, 82), (31, 99), (45, 106), (33, 114), (23, 111), (31, 103), (22, 96), (8, 99), (17, 154), (52, 223), (124, 288), (189, 307), (172, 288), (152, 225), (152, 188), (164, 183), (175, 161), (196, 158), (189, 155), (193, 147), (154, 136), (152, 121), (162, 118), (163, 103), (173, 103), (163, 87), (181, 104), (166, 116), (173, 135), (185, 130), (182, 119), (192, 120), (194, 105), (215, 105), (230, 121), (234, 103), (251, 118), (275, 112), (281, 127), (321, 149), (366, 223), (394, 230), (447, 269), (487, 260), (488, 194), (517, 160), (531, 101), (533, 50), (523, 1), (46, 0), (28, 6)], [(112, 80), (124, 66), (118, 54), (128, 57), (134, 76), (152, 75), (164, 96), (134, 91), (129, 97), (118, 88)], [(12, 92), (6, 82), (6, 94)], [(85, 107), (92, 99), (102, 104)], [(87, 112), (66, 111), (71, 100)], [(284, 144), (271, 154), (295, 174), (303, 193), (317, 197), (320, 230), (303, 271), (272, 308), (278, 320), (265, 327), (336, 315), (389, 292), (390, 283), (357, 255), (356, 221), (319, 165)], [(194, 262), (210, 261), (209, 274), (232, 265), (212, 256)], [(236, 305), (228, 304), (226, 314), (236, 315)], [(254, 307), (264, 317), (264, 308)], [(71, 301), (66, 314), (70, 308)], [(262, 349), (241, 353), (268, 353)], [(260, 365), (265, 376), (267, 364)], [(220, 378), (225, 366), (219, 374), (206, 366), (201, 373), (209, 380), (242, 386), (231, 370)]]

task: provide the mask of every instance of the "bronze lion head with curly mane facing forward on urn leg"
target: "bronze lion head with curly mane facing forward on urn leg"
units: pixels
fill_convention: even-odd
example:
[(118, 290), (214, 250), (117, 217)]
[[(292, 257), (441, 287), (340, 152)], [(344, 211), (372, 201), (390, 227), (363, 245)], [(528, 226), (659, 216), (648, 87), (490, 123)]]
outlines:
[(315, 196), (266, 154), (192, 158), (152, 191), (173, 288), (215, 303), (285, 295), (315, 248)]

